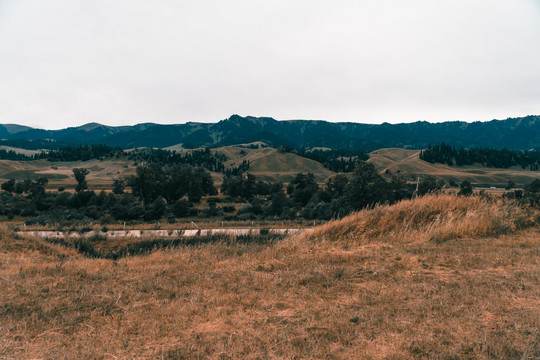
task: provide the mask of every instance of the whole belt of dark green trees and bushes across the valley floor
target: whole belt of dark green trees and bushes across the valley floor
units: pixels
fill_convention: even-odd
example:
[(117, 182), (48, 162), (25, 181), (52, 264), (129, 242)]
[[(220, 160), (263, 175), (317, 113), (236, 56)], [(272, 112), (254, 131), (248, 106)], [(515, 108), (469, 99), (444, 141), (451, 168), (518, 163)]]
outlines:
[[(68, 224), (74, 221), (175, 221), (183, 217), (222, 220), (329, 220), (375, 204), (439, 191), (444, 182), (426, 176), (411, 184), (399, 175), (382, 177), (372, 164), (359, 161), (350, 174), (320, 184), (314, 174), (298, 173), (288, 183), (267, 182), (251, 174), (225, 176), (216, 197), (208, 170), (189, 164), (145, 163), (134, 175), (114, 180), (113, 191), (88, 190), (89, 170), (73, 169), (75, 192), (46, 191), (48, 179), (10, 179), (1, 184), (0, 215), (23, 216), (27, 223)], [(128, 188), (130, 191), (127, 191)], [(472, 195), (464, 181), (459, 195)], [(540, 180), (511, 193), (540, 206)], [(206, 198), (204, 203), (201, 203)], [(195, 206), (196, 204), (199, 204)], [(206, 207), (203, 205), (205, 204)]]

